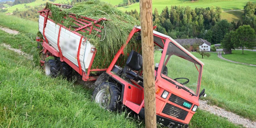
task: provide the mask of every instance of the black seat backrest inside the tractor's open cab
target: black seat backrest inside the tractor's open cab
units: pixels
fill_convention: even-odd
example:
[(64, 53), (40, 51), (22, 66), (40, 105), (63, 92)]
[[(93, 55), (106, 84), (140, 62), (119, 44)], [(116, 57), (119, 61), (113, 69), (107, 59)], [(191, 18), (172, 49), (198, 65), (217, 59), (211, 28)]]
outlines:
[(135, 71), (139, 71), (142, 67), (142, 55), (132, 50), (125, 66), (130, 67)]

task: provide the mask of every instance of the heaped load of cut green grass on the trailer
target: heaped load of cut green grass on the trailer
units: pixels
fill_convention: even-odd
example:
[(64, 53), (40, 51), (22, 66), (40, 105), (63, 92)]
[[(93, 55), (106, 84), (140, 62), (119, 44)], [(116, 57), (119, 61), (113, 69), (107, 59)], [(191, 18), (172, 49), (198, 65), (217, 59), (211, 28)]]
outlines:
[[(79, 16), (86, 16), (95, 20), (99, 18), (107, 18), (106, 21), (98, 23), (104, 26), (104, 28), (101, 29), (102, 32), (93, 30), (89, 35), (88, 32), (78, 31), (80, 34), (87, 37), (90, 43), (97, 48), (92, 68), (108, 67), (117, 51), (123, 44), (125, 44), (133, 26), (140, 24), (140, 22), (132, 16), (129, 16), (112, 5), (99, 0), (88, 0), (76, 3), (70, 9), (62, 9), (48, 3), (47, 8), (52, 12), (52, 20), (63, 24), (67, 28), (71, 26), (71, 29), (73, 30), (76, 28), (72, 28), (72, 26), (77, 25), (73, 23), (73, 18), (63, 18), (67, 14), (75, 14), (77, 18), (79, 18)], [(96, 36), (97, 34), (100, 34), (101, 37)], [(126, 53), (129, 53), (131, 49), (138, 48), (139, 45), (141, 44), (136, 41), (135, 37), (133, 37), (125, 48), (124, 55), (127, 55)], [(127, 57), (124, 56), (122, 58), (122, 60), (119, 60), (120, 66), (123, 66), (122, 63), (125, 63), (125, 59)]]

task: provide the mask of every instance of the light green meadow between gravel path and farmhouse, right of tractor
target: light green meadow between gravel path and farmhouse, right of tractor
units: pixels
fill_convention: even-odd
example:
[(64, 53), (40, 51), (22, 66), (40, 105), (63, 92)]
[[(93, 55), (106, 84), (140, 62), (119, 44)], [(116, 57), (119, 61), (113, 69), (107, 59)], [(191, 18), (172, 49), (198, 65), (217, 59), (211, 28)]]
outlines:
[[(198, 53), (192, 53), (199, 59), (201, 58)], [(217, 53), (210, 54), (209, 58), (200, 59), (205, 63), (201, 90), (205, 88), (205, 92), (208, 94), (206, 99), (210, 100), (212, 104), (255, 121), (256, 68), (224, 61), (217, 57)], [(156, 63), (159, 63), (159, 60), (159, 57), (156, 58)], [(175, 63), (176, 66), (174, 65), (172, 68), (177, 68), (179, 65), (183, 65), (184, 69), (189, 70), (190, 68), (184, 65), (180, 59), (176, 59)], [(172, 72), (169, 72), (168, 75), (171, 75), (170, 73)]]

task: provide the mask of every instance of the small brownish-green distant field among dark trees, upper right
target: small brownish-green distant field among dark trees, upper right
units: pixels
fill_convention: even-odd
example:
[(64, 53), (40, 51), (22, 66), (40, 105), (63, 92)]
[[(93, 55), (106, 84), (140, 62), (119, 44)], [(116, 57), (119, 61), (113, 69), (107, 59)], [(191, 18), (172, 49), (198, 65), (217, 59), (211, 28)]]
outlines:
[(229, 22), (238, 22), (240, 20), (243, 22), (243, 15), (244, 11), (243, 10), (238, 10), (238, 11), (226, 11), (221, 13), (221, 18), (222, 19), (227, 19)]

